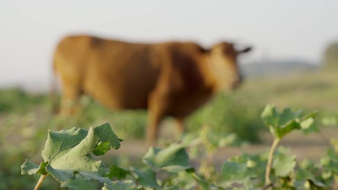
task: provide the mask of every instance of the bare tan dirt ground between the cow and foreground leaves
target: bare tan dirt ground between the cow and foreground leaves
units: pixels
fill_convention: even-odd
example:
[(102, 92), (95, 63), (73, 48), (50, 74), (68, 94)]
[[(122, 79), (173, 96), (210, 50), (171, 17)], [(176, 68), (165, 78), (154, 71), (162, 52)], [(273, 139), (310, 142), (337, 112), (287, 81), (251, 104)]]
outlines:
[[(302, 132), (293, 132), (286, 136), (281, 142), (280, 146), (290, 148), (292, 154), (296, 154), (298, 160), (311, 158), (319, 160), (324, 155), (329, 146), (331, 138), (338, 137), (338, 127), (326, 127), (321, 130), (321, 133), (312, 133), (304, 135)], [(249, 154), (261, 153), (267, 151), (272, 144), (272, 136), (268, 132), (261, 134), (262, 143), (245, 145), (243, 147), (226, 147), (221, 149), (214, 161), (216, 165), (221, 165), (227, 158), (234, 155), (247, 152)], [(126, 154), (132, 160), (141, 160), (141, 157), (147, 151), (147, 146), (143, 141), (124, 141), (121, 148), (116, 151), (110, 151), (109, 155)]]

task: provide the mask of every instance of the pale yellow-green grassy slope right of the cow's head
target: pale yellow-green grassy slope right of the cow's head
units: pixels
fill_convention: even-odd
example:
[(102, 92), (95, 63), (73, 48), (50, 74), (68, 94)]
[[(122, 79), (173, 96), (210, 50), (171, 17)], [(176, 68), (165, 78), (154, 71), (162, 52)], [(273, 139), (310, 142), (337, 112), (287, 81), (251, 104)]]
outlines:
[(293, 73), (288, 76), (248, 80), (241, 93), (277, 107), (317, 109), (322, 114), (337, 115), (338, 71)]

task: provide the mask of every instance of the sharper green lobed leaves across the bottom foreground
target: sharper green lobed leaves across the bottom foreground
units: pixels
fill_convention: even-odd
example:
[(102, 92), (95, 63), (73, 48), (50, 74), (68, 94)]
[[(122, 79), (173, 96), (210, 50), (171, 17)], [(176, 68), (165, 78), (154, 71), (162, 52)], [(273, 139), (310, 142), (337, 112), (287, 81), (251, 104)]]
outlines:
[[(279, 114), (268, 105), (262, 118), (274, 128), (271, 134), (279, 139), (294, 129), (308, 129), (314, 123), (315, 114), (301, 116), (300, 112), (290, 109)], [(293, 127), (295, 125), (298, 127)], [(102, 190), (257, 190), (264, 186), (264, 171), (269, 168), (266, 163), (272, 159), (273, 190), (329, 190), (338, 183), (338, 152), (332, 149), (320, 163), (304, 160), (297, 164), (296, 156), (285, 148), (273, 151), (274, 157), (267, 152), (242, 154), (229, 158), (223, 163), (221, 173), (213, 170), (214, 177), (209, 178), (207, 173), (196, 173), (190, 166), (186, 151), (201, 145), (208, 150), (210, 145), (202, 143), (203, 139), (204, 136), (187, 136), (182, 143), (173, 143), (164, 149), (150, 147), (141, 167), (112, 164), (107, 168), (101, 161), (93, 160), (91, 154), (103, 155), (110, 148), (120, 147), (121, 139), (108, 123), (89, 130), (72, 128), (49, 132), (42, 151), (44, 161), (37, 165), (26, 160), (22, 174), (51, 175), (61, 182), (62, 188), (70, 190), (97, 190), (91, 180), (100, 182)], [(211, 145), (213, 152), (222, 144)]]

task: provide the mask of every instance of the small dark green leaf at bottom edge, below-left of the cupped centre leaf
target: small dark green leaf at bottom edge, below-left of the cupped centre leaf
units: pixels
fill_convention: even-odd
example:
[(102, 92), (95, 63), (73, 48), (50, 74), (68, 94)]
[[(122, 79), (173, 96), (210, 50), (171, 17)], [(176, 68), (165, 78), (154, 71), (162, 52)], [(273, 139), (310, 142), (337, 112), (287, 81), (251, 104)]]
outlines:
[(137, 179), (137, 182), (143, 187), (160, 188), (156, 182), (156, 174), (151, 169), (136, 169), (132, 168), (132, 173)]

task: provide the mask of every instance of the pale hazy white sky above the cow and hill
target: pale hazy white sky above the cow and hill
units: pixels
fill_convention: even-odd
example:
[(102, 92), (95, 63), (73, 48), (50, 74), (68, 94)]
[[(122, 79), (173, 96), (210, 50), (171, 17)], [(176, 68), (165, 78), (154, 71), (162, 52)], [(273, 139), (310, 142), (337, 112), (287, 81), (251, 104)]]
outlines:
[(226, 39), (253, 45), (242, 62), (319, 62), (338, 40), (337, 19), (337, 0), (1, 0), (0, 85), (47, 85), (56, 43), (79, 33), (206, 47)]

